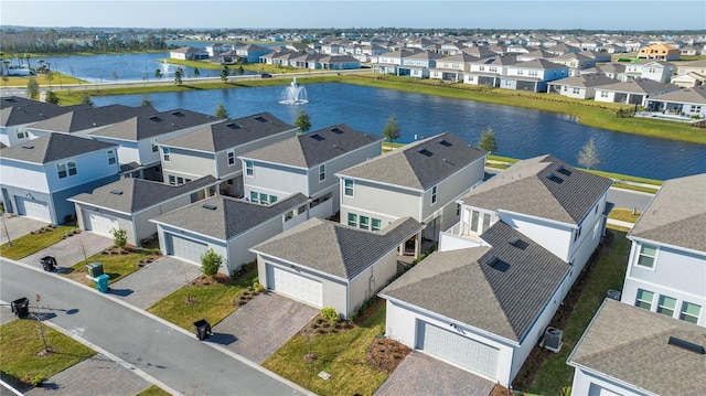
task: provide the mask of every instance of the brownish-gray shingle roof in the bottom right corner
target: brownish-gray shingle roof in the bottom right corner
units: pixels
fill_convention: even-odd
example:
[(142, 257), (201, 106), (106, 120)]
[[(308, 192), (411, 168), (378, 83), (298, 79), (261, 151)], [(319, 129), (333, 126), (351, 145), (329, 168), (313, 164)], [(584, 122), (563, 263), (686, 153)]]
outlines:
[(567, 363), (655, 395), (703, 395), (706, 355), (668, 343), (706, 346), (706, 329), (606, 299)]

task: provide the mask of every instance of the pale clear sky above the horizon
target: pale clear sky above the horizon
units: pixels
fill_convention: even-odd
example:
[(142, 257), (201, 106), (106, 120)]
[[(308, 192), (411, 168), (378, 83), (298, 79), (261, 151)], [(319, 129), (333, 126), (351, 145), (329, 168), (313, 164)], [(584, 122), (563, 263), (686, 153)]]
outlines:
[(2, 0), (0, 25), (706, 30), (706, 0)]

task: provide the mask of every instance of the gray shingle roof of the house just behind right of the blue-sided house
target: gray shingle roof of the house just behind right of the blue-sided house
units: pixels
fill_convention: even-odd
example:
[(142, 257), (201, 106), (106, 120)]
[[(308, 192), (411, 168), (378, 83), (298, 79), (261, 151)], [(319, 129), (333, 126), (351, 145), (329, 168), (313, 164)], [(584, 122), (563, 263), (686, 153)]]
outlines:
[(90, 136), (137, 141), (216, 121), (216, 117), (179, 108), (131, 117), (93, 131)]

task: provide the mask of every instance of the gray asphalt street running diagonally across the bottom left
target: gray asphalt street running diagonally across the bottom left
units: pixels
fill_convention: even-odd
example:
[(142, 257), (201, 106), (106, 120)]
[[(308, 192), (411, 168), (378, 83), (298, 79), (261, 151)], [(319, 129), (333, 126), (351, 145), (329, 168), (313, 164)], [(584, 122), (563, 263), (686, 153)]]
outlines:
[[(184, 395), (304, 395), (302, 388), (247, 364), (95, 290), (0, 259), (0, 299), (26, 297), (65, 329)], [(41, 309), (40, 311), (45, 311)]]

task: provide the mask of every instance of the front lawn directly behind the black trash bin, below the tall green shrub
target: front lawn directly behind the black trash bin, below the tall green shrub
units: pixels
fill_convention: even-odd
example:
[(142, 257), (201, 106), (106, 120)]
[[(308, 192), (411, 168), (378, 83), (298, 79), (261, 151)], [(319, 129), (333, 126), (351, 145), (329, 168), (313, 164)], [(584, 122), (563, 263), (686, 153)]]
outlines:
[[(211, 285), (184, 286), (148, 308), (148, 311), (189, 331), (194, 330), (193, 323), (200, 319), (206, 319), (211, 325), (215, 325), (235, 312), (237, 306), (234, 299), (253, 285), (255, 277), (257, 268), (252, 268), (226, 283), (213, 281)], [(189, 299), (194, 302), (186, 303)]]

